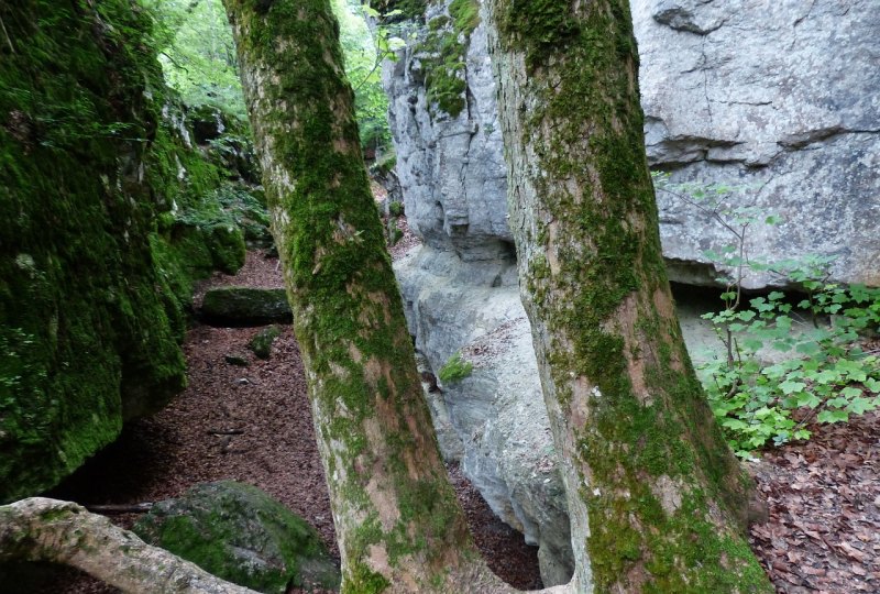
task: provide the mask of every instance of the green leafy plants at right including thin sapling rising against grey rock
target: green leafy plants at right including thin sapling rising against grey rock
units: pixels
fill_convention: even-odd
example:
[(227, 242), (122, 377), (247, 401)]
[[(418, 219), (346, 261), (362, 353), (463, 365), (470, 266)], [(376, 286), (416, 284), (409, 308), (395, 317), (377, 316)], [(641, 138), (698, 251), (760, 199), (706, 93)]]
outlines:
[[(860, 344), (864, 334), (880, 327), (880, 288), (828, 283), (829, 256), (773, 263), (749, 257), (749, 230), (781, 219), (740, 200), (745, 188), (673, 186), (662, 174), (654, 182), (708, 213), (734, 241), (704, 252), (730, 275), (722, 279), (727, 285), (721, 295), (724, 309), (703, 316), (715, 327), (726, 356), (701, 365), (698, 375), (737, 455), (807, 439), (806, 425), (813, 420), (842, 422), (880, 407), (880, 358)], [(774, 290), (746, 306), (741, 283), (748, 271), (777, 274), (803, 298)]]

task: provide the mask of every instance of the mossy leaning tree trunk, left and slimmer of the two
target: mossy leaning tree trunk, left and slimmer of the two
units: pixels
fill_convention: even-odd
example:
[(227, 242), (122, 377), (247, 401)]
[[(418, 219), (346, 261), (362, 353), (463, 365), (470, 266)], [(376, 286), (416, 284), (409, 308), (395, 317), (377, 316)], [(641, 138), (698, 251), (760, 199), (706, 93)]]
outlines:
[[(343, 592), (493, 582), (448, 482), (328, 0), (224, 0), (330, 486)], [(292, 413), (293, 414), (293, 413)], [(484, 588), (484, 590), (483, 590)]]

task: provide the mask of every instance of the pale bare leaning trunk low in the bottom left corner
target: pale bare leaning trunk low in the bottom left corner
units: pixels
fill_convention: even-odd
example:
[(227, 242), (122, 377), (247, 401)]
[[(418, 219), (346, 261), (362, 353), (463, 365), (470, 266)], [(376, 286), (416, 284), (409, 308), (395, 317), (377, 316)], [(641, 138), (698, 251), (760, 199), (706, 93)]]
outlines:
[(0, 506), (0, 562), (77, 568), (133, 594), (255, 594), (144, 543), (74, 503), (32, 497)]

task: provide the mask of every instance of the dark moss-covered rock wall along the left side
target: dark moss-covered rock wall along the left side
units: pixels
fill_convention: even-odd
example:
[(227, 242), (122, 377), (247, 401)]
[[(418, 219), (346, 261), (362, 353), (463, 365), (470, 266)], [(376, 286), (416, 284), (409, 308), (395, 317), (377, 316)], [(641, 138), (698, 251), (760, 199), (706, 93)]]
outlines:
[(193, 279), (238, 268), (244, 241), (136, 4), (24, 0), (0, 19), (4, 503), (55, 485), (183, 388)]

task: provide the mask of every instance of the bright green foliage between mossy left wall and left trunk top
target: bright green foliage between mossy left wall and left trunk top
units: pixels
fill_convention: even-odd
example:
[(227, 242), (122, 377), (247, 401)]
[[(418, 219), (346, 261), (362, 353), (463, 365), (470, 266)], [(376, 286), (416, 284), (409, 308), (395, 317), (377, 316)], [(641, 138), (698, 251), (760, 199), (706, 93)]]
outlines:
[(246, 120), (232, 32), (221, 0), (142, 0), (157, 22), (167, 84), (189, 106), (209, 105)]

